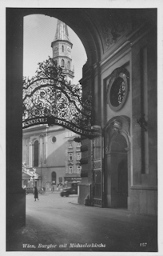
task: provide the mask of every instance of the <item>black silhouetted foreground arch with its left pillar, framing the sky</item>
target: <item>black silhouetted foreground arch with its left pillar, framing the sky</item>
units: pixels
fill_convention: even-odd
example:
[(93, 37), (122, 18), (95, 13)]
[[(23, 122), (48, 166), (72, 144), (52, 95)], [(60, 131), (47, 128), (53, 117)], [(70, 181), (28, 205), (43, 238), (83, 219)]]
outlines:
[[(75, 16), (74, 16), (75, 11)], [(22, 226), (26, 223), (26, 194), (22, 190), (22, 55), (23, 55), (23, 18), (30, 14), (45, 14), (59, 18), (70, 26), (85, 46), (88, 61), (85, 63), (83, 86), (85, 94), (93, 86), (92, 65), (100, 60), (100, 46), (97, 40), (96, 26), (86, 21), (89, 15), (83, 10), (74, 9), (32, 9), (9, 8), (6, 11), (6, 90), (7, 90), (7, 229), (10, 226)], [(79, 15), (78, 15), (79, 14)], [(79, 26), (78, 26), (79, 25)], [(84, 31), (84, 32), (83, 32)], [(12, 43), (10, 43), (10, 38)], [(15, 63), (17, 65), (15, 66)], [(100, 103), (99, 103), (100, 104)], [(17, 134), (15, 136), (15, 134)], [(16, 149), (16, 150), (15, 150)]]

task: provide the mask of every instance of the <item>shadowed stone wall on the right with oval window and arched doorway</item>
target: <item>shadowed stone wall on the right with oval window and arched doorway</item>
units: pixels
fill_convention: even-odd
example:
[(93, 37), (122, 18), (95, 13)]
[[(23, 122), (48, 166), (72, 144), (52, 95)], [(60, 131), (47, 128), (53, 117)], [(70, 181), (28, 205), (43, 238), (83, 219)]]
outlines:
[(80, 81), (85, 93), (93, 82), (93, 125), (101, 136), (81, 138), (78, 200), (89, 195), (92, 206), (157, 215), (156, 10), (113, 10), (112, 25), (108, 12), (98, 10), (105, 17), (99, 28), (112, 33), (102, 34), (101, 58), (93, 73), (85, 64)]

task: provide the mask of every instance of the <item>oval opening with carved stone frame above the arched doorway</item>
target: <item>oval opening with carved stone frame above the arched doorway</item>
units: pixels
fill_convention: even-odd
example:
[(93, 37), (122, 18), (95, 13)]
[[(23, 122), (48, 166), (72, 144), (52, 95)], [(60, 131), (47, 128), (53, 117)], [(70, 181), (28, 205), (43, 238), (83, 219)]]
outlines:
[(109, 78), (107, 88), (107, 103), (113, 111), (120, 110), (124, 106), (129, 92), (129, 72), (118, 68)]

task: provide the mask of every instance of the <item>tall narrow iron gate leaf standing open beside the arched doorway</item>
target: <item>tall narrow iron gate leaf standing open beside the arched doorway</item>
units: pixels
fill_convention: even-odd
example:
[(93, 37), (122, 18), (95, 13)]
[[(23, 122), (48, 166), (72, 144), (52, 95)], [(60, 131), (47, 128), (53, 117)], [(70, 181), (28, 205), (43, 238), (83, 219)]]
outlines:
[(92, 140), (92, 169), (93, 169), (93, 188), (92, 198), (93, 206), (102, 207), (102, 137), (101, 127), (93, 126), (93, 129), (98, 130), (98, 137)]

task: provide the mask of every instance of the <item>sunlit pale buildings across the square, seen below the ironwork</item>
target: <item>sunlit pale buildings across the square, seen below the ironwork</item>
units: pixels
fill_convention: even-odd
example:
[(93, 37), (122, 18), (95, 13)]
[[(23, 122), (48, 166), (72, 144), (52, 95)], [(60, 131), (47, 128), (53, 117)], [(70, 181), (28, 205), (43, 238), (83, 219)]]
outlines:
[(38, 189), (56, 190), (60, 184), (81, 181), (80, 143), (74, 142), (74, 132), (61, 126), (34, 126), (23, 130), (22, 162), (26, 174), (35, 171), (39, 178), (30, 182), (22, 174), (22, 185), (36, 185)]

